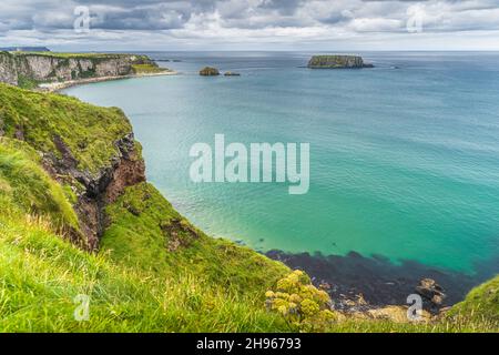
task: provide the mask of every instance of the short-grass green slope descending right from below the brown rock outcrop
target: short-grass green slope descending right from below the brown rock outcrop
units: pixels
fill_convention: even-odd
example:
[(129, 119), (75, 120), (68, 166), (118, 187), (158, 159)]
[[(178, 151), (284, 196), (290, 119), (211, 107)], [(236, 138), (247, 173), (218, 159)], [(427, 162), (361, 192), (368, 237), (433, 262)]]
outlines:
[(263, 304), (265, 291), (289, 271), (249, 248), (206, 236), (149, 183), (128, 187), (106, 214), (111, 225), (101, 250), (116, 263), (159, 276), (194, 272), (206, 282), (255, 294)]

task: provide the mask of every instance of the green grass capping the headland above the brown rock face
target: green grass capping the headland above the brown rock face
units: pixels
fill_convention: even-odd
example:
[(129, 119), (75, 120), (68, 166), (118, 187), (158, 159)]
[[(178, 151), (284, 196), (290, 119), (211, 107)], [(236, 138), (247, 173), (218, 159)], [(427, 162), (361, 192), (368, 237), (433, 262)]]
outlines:
[(108, 166), (118, 154), (114, 143), (132, 132), (120, 109), (98, 108), (74, 98), (38, 93), (0, 84), (0, 129), (7, 136), (20, 131), (37, 151), (61, 153), (54, 144), (58, 134), (79, 162), (92, 173)]

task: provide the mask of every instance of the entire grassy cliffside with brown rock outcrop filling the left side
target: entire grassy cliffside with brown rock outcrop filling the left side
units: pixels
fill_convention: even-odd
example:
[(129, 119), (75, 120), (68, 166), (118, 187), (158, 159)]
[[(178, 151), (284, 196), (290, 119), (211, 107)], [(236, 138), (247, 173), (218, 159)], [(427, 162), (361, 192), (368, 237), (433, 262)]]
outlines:
[(286, 328), (263, 303), (288, 268), (180, 215), (119, 109), (0, 84), (0, 211), (1, 332)]

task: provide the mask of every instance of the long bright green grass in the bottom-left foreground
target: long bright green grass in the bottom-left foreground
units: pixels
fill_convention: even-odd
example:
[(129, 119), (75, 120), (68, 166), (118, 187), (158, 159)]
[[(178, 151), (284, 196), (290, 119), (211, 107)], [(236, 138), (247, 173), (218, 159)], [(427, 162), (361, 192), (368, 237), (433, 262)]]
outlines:
[[(0, 216), (0, 332), (265, 332), (283, 321), (195, 274), (155, 277), (63, 242), (43, 221)], [(73, 302), (90, 296), (90, 318)]]

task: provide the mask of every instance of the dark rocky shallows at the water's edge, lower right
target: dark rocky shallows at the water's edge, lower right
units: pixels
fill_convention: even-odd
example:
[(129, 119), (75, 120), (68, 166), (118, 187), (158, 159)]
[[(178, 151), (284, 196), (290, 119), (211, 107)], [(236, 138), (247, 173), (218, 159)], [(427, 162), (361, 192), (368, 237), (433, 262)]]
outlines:
[[(470, 290), (493, 276), (486, 272), (486, 264), (476, 265), (476, 273), (467, 274), (413, 260), (403, 260), (397, 264), (381, 255), (364, 256), (356, 252), (324, 255), (318, 252), (286, 253), (271, 250), (262, 254), (292, 270), (305, 271), (316, 286), (329, 294), (335, 306), (347, 312), (390, 305), (408, 306), (407, 297), (418, 293), (416, 287), (419, 282), (431, 278), (442, 286), (446, 296), (440, 305), (422, 297), (424, 308), (438, 313), (461, 302)], [(497, 262), (491, 260), (488, 263)]]

